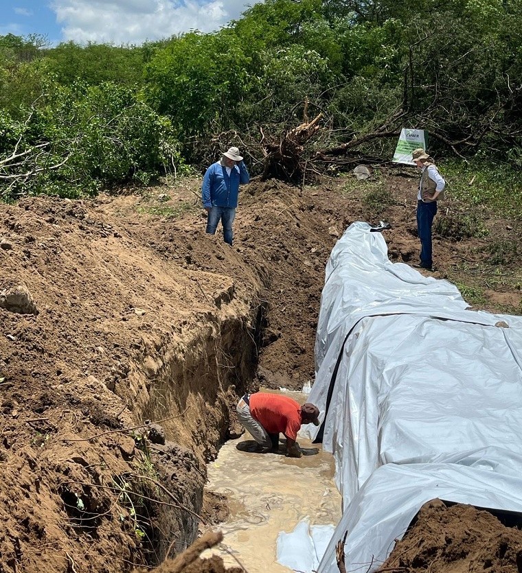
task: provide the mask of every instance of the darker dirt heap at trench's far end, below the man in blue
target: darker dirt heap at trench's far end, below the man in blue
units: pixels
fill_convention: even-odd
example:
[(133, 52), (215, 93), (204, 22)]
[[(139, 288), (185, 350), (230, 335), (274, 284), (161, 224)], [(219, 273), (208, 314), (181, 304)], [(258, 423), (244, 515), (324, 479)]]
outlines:
[[(253, 182), (242, 192), (232, 253), (223, 245), (220, 228), (215, 237), (205, 237), (201, 210), (188, 221), (147, 225), (141, 232), (162, 257), (188, 269), (223, 273), (236, 284), (258, 277), (261, 382), (302, 388), (314, 375), (324, 266), (343, 231), (345, 208), (345, 199), (332, 189), (299, 191), (277, 181)], [(180, 232), (192, 235), (188, 246), (177, 241)]]

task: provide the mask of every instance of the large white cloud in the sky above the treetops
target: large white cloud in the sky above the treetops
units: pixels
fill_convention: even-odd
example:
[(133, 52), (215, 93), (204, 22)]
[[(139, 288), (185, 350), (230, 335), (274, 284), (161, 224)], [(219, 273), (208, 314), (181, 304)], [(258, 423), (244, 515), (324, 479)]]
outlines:
[[(212, 32), (247, 9), (245, 0), (52, 0), (63, 40), (141, 44), (201, 30)], [(257, 0), (249, 1), (255, 3)]]

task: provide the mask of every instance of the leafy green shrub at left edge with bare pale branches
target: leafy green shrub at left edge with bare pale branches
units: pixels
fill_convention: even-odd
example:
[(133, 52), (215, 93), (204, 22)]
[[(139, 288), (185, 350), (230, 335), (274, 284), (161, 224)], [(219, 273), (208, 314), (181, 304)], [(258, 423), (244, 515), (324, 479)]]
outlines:
[[(54, 86), (37, 104), (21, 120), (0, 112), (0, 194), (5, 200), (44, 193), (92, 195), (103, 186), (148, 185), (160, 174), (188, 170), (170, 120), (131, 88)], [(16, 145), (23, 156), (8, 161)]]

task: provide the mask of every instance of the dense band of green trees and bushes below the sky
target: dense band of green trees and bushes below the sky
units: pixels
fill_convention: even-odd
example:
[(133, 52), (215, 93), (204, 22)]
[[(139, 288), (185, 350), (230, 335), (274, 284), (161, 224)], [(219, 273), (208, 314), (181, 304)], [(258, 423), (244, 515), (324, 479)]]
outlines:
[(266, 0), (141, 46), (0, 36), (0, 194), (148, 183), (236, 142), (260, 172), (262, 137), (318, 113), (315, 145), (345, 154), (384, 161), (411, 127), (438, 156), (519, 165), (521, 21), (521, 0)]

